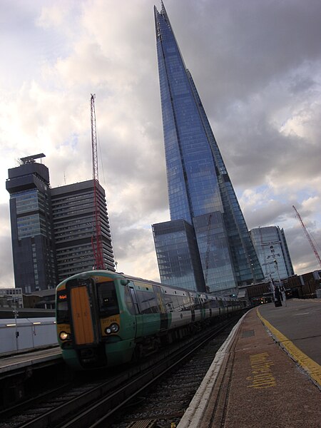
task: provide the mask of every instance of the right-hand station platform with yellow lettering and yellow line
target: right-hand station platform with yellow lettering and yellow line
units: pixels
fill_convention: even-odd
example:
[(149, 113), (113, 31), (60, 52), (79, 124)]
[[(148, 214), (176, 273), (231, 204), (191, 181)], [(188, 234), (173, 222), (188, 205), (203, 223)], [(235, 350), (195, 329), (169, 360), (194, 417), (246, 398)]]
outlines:
[(320, 299), (247, 312), (177, 428), (321, 428), (320, 315)]

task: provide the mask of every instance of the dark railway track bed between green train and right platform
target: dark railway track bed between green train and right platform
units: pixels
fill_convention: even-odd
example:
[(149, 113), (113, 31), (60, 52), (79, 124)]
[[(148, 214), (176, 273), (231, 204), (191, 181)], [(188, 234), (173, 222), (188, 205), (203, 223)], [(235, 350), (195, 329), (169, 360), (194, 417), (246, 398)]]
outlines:
[[(155, 382), (163, 381), (165, 376), (168, 379), (173, 379), (173, 370), (177, 370), (175, 367), (182, 366), (184, 361), (191, 358), (196, 349), (203, 347), (211, 338), (213, 339), (213, 337), (222, 334), (223, 330), (227, 328), (226, 324), (219, 327), (211, 327), (201, 335), (199, 334), (168, 349), (166, 348), (157, 357), (147, 359), (141, 364), (130, 367), (128, 370), (123, 370), (113, 377), (96, 379), (94, 382), (83, 382), (77, 386), (68, 387), (68, 389), (57, 390), (56, 393), (51, 391), (49, 396), (36, 397), (34, 402), (29, 400), (27, 407), (25, 404), (21, 404), (20, 407), (16, 406), (14, 415), (2, 412), (0, 414), (1, 428), (98, 428), (111, 427), (111, 423), (114, 423), (115, 427), (121, 427), (123, 422), (115, 421), (116, 413), (123, 414), (125, 406), (131, 408), (134, 405), (137, 407), (137, 402), (146, 402), (143, 397), (146, 397), (147, 389), (151, 390)], [(205, 352), (207, 356), (204, 358), (204, 365), (202, 362), (201, 369), (200, 357), (198, 356), (196, 360), (194, 359), (198, 362), (198, 377), (195, 376), (195, 369), (191, 370), (190, 383), (192, 387), (185, 394), (185, 399), (179, 400), (184, 403), (184, 406), (193, 397), (198, 384), (200, 384), (205, 372), (208, 370), (210, 362), (213, 361), (215, 350), (218, 347), (220, 347), (220, 343), (216, 343), (216, 347)], [(207, 360), (206, 364), (205, 360)], [(113, 369), (113, 373), (115, 372), (116, 370)], [(173, 389), (174, 385), (183, 383), (180, 379), (169, 380), (168, 382), (171, 384), (171, 389)], [(184, 387), (186, 387), (186, 384), (184, 384)], [(161, 386), (161, 390), (166, 388)], [(158, 392), (158, 394), (160, 393)], [(180, 393), (176, 391), (175, 395), (177, 396), (177, 394)], [(159, 397), (158, 395), (155, 402), (157, 400), (161, 402)], [(173, 402), (173, 397), (171, 401)], [(183, 409), (181, 405), (177, 406), (174, 414), (173, 411), (171, 412), (170, 418), (180, 419)], [(152, 414), (151, 410), (148, 410), (148, 412)], [(155, 414), (155, 416), (153, 418), (143, 417), (141, 420), (146, 422), (148, 419), (154, 419), (158, 423), (163, 417), (162, 414)], [(128, 424), (128, 420), (136, 423), (139, 420), (138, 418), (137, 416), (129, 417), (125, 423)], [(168, 414), (163, 419), (168, 421)], [(154, 424), (154, 426), (156, 425)], [(157, 426), (161, 427), (162, 425)]]

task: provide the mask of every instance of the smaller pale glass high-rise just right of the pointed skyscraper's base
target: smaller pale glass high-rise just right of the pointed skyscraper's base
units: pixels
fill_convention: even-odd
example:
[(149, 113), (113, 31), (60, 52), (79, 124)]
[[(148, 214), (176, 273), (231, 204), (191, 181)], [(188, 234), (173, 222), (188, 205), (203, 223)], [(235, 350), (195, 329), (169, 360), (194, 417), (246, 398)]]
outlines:
[(277, 281), (294, 275), (287, 240), (279, 226), (250, 230), (250, 236), (266, 278)]

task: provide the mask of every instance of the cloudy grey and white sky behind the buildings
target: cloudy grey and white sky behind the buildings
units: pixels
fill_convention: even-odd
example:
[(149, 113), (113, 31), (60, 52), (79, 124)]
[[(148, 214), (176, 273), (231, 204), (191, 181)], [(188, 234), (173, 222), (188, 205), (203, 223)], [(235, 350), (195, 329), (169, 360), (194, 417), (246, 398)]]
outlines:
[[(151, 224), (170, 220), (153, 6), (0, 1), (0, 287), (13, 287), (8, 169), (44, 153), (51, 187), (99, 181), (118, 272), (159, 280)], [(284, 228), (295, 273), (320, 269), (320, 0), (165, 0), (248, 229)], [(19, 287), (16, 284), (16, 287)]]

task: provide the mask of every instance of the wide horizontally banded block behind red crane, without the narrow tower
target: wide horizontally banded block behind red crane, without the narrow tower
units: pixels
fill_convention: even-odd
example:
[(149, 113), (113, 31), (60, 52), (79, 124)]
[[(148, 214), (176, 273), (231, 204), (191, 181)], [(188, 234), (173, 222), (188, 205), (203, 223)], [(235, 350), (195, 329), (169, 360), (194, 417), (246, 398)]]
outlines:
[[(105, 190), (98, 185), (103, 261), (114, 269), (111, 228)], [(51, 213), (58, 267), (58, 282), (75, 273), (92, 270), (93, 247), (93, 180), (51, 189)]]

